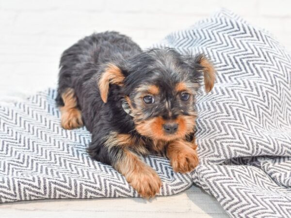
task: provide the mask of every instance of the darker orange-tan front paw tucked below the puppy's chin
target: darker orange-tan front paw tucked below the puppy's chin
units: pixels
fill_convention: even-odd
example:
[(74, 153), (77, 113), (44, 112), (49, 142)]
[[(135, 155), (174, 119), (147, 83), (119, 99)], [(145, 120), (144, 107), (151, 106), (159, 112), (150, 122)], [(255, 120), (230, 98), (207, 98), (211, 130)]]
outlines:
[(176, 172), (186, 173), (193, 171), (199, 164), (199, 159), (194, 150), (181, 152), (171, 158), (171, 165)]

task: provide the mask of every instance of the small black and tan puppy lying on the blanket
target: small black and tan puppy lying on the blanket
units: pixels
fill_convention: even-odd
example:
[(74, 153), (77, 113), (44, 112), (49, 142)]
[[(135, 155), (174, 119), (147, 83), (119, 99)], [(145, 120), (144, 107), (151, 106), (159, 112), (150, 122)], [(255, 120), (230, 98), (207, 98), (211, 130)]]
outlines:
[(204, 55), (171, 48), (142, 51), (117, 32), (85, 37), (65, 50), (57, 103), (65, 129), (85, 125), (89, 154), (122, 173), (143, 197), (159, 193), (161, 179), (140, 156), (165, 152), (175, 171), (198, 164), (195, 96), (215, 71)]

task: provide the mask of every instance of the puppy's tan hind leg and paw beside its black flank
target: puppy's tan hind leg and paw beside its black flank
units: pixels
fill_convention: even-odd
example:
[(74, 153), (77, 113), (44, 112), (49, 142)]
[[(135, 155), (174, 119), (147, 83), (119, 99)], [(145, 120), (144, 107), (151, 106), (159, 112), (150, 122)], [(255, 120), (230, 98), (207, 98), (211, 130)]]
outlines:
[(79, 128), (83, 125), (81, 110), (77, 108), (77, 98), (72, 88), (62, 93), (64, 106), (61, 110), (61, 125), (65, 129)]

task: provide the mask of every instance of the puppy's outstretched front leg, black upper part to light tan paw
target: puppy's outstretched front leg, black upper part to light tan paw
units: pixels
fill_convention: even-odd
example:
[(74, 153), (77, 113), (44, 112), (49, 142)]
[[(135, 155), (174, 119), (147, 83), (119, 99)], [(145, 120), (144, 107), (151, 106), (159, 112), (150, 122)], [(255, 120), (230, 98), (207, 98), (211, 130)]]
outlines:
[(94, 159), (111, 164), (142, 197), (151, 198), (160, 192), (159, 175), (137, 155), (148, 152), (144, 143), (129, 134), (111, 132), (103, 138), (93, 134), (88, 152)]

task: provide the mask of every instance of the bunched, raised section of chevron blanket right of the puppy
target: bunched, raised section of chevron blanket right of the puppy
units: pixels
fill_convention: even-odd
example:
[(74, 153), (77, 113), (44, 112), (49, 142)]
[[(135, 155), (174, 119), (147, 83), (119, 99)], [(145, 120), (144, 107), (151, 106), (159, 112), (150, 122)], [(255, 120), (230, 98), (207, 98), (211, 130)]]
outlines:
[(222, 10), (162, 46), (205, 52), (214, 89), (198, 98), (196, 184), (234, 218), (291, 217), (291, 57), (272, 35)]

